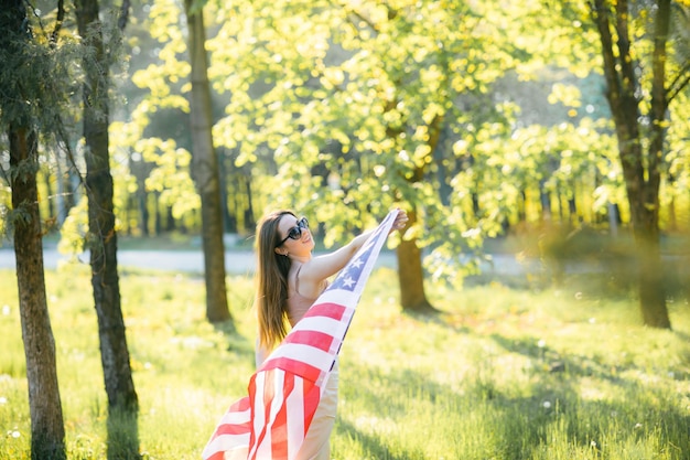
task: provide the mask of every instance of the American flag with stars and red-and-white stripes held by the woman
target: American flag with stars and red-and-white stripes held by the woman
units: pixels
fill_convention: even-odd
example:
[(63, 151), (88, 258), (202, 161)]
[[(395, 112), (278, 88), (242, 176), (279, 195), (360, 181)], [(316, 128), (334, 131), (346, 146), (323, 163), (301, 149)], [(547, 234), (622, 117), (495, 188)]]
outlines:
[(204, 460), (295, 458), (396, 215), (391, 211), (386, 216), (251, 376), (249, 395), (223, 416), (202, 453)]

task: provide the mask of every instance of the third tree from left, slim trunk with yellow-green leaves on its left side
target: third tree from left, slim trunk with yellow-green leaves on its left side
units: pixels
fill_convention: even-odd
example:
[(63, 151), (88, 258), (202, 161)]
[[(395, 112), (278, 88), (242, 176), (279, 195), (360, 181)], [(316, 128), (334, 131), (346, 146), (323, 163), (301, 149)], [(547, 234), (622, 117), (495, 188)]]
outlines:
[[(206, 317), (211, 322), (220, 322), (231, 320), (231, 315), (225, 279), (218, 159), (211, 130), (213, 113), (203, 7), (203, 1), (151, 4), (149, 32), (162, 50), (158, 61), (132, 76), (133, 83), (149, 93), (131, 114), (131, 121), (122, 126), (126, 135), (120, 145), (131, 147), (141, 153), (143, 161), (154, 164), (145, 185), (161, 192), (161, 204), (171, 206), (175, 218), (201, 208)], [(186, 28), (179, 21), (182, 17), (186, 19)], [(180, 82), (185, 83), (180, 85)], [(168, 126), (151, 133), (154, 117), (160, 117), (163, 110), (188, 113), (191, 129), (185, 128), (191, 133), (188, 149), (186, 139), (171, 135)]]

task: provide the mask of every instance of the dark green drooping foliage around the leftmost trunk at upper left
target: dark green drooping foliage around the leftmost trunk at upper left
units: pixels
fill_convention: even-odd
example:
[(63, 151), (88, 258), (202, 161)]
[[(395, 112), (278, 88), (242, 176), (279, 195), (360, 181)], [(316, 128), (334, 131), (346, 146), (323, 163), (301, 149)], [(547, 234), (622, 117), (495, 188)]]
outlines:
[[(109, 53), (107, 63), (110, 69), (117, 71), (123, 57), (119, 46), (121, 36), (111, 13), (104, 13), (103, 29), (89, 31), (89, 36), (94, 33), (106, 35)], [(72, 189), (65, 192), (64, 189), (53, 190), (52, 186), (58, 181), (66, 182), (67, 175), (80, 176), (79, 168), (84, 167), (80, 157), (83, 149), (77, 140), (79, 135), (76, 133), (79, 126), (77, 114), (82, 104), (84, 66), (95, 65), (97, 56), (94, 47), (83, 45), (72, 22), (56, 23), (55, 10), (47, 9), (42, 14), (37, 9), (29, 9), (25, 24), (31, 29), (31, 33), (22, 36), (26, 40), (13, 41), (11, 46), (0, 46), (0, 58), (3, 62), (0, 68), (0, 130), (7, 132), (10, 126), (21, 126), (29, 132), (35, 132), (39, 139), (37, 154), (10, 170), (9, 146), (3, 142), (0, 176), (7, 184), (0, 184), (0, 210), (2, 217), (11, 215), (4, 211), (6, 206), (9, 207), (9, 199), (6, 204), (4, 196), (10, 195), (13, 178), (39, 173), (37, 179), (42, 180), (45, 174), (45, 183), (39, 183), (39, 205), (45, 220), (55, 222), (57, 216), (52, 215), (52, 212), (62, 214), (64, 200)], [(4, 41), (11, 39), (11, 34), (3, 35)], [(99, 108), (97, 116), (103, 117), (104, 114)], [(116, 180), (119, 180), (121, 170), (117, 164), (121, 162), (118, 161), (112, 171)], [(7, 195), (3, 193), (6, 191)], [(56, 205), (53, 205), (53, 201)], [(9, 229), (9, 224), (3, 222), (0, 227)]]

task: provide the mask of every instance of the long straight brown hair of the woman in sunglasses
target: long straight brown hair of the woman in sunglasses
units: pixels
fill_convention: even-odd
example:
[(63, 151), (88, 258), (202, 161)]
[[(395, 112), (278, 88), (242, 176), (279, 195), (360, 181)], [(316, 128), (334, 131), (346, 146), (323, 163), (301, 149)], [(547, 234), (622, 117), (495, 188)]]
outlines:
[(274, 211), (266, 215), (257, 225), (257, 293), (255, 307), (259, 320), (259, 340), (270, 350), (288, 333), (288, 272), (290, 259), (276, 253), (280, 243), (278, 224), (292, 211)]

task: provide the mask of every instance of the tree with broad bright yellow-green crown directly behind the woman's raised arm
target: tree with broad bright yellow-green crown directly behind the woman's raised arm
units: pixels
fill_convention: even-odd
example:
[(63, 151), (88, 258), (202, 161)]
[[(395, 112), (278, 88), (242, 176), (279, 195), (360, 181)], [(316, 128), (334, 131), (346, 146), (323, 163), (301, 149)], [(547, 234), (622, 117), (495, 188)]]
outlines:
[(406, 207), (416, 223), (398, 248), (401, 302), (427, 309), (421, 249), (457, 267), (474, 235), (495, 228), (489, 210), (477, 217), (444, 204), (441, 189), (452, 178), (439, 183), (436, 161), (454, 157), (441, 132), (478, 137), (509, 119), (489, 94), (516, 53), (499, 46), (509, 39), (496, 9), (459, 1), (236, 9), (245, 21), (223, 22), (212, 40), (214, 82), (233, 95), (216, 126), (219, 142), (240, 150), (239, 164), (268, 152), (277, 171), (267, 179), (270, 202), (327, 222), (327, 244), (390, 206)]

